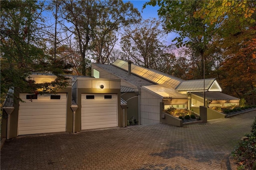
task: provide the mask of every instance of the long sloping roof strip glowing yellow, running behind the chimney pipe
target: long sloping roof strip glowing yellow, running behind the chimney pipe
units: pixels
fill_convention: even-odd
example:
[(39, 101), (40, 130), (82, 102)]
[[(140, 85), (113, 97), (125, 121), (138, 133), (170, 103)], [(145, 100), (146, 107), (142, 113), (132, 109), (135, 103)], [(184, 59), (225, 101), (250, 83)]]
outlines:
[[(114, 63), (112, 63), (112, 65), (128, 71), (128, 61), (117, 59)], [(154, 69), (147, 69), (133, 63), (131, 65), (131, 72), (156, 84), (167, 83), (172, 88), (175, 88), (178, 84), (180, 84), (181, 81), (184, 81), (178, 77), (173, 77)]]

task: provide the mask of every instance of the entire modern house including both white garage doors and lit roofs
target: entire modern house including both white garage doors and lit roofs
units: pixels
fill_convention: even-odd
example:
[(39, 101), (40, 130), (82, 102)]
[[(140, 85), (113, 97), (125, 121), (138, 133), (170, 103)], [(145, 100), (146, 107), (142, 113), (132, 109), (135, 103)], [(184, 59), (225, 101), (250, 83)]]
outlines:
[[(216, 79), (184, 81), (120, 59), (111, 65), (92, 63), (92, 75), (65, 75), (70, 85), (56, 94), (34, 95), (10, 89), (23, 102), (6, 98), (1, 138), (126, 127), (135, 119), (142, 125), (166, 123), (167, 119), (161, 121), (161, 113), (168, 107), (199, 113), (202, 105), (207, 109), (227, 107), (239, 105), (240, 100), (221, 93)], [(33, 73), (30, 79), (45, 83), (56, 76)], [(214, 119), (215, 113), (211, 114), (210, 119)]]

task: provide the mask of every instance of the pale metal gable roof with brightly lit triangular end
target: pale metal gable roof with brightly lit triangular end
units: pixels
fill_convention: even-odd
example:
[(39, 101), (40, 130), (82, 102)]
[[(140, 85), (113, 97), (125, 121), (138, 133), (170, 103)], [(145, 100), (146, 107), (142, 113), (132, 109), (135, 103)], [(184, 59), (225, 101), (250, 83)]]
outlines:
[[(205, 85), (204, 85), (205, 84)], [(177, 91), (222, 91), (216, 79), (200, 79), (182, 81), (177, 87)]]

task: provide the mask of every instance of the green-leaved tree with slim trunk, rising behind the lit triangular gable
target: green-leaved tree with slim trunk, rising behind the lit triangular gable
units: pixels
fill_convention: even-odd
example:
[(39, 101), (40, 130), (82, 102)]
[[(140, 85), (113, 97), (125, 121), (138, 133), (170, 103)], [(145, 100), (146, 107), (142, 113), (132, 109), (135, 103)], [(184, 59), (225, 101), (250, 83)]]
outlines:
[(158, 16), (162, 19), (163, 28), (167, 32), (175, 32), (179, 36), (174, 38), (177, 47), (186, 46), (193, 49), (194, 54), (200, 56), (200, 77), (204, 77), (204, 52), (210, 42), (214, 25), (206, 26), (201, 18), (194, 18), (194, 12), (201, 9), (202, 1), (150, 1), (144, 4), (160, 6)]

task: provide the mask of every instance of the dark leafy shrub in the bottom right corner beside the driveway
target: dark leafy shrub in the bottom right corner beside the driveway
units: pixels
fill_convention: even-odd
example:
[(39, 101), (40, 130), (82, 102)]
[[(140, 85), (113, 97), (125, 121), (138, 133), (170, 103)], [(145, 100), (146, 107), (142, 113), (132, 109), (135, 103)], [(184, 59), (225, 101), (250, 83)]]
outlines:
[(238, 169), (254, 170), (256, 168), (256, 117), (251, 133), (246, 136), (249, 139), (240, 141), (232, 154), (238, 164)]

